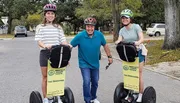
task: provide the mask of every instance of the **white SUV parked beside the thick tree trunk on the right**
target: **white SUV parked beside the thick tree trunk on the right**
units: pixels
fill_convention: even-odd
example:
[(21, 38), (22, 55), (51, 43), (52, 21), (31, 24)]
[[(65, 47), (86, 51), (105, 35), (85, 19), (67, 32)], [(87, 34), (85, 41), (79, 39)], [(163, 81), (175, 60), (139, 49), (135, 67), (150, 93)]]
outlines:
[(152, 23), (151, 26), (147, 28), (146, 34), (149, 36), (165, 35), (165, 24)]

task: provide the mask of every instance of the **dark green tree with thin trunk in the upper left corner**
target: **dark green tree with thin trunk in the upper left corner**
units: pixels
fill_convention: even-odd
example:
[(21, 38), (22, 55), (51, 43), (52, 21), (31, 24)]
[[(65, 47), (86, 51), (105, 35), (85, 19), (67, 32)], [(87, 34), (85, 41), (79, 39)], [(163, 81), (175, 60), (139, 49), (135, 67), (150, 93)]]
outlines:
[(8, 16), (8, 33), (11, 33), (12, 20), (20, 19), (21, 16), (27, 16), (32, 10), (33, 5), (29, 5), (29, 0), (1, 0), (0, 14)]

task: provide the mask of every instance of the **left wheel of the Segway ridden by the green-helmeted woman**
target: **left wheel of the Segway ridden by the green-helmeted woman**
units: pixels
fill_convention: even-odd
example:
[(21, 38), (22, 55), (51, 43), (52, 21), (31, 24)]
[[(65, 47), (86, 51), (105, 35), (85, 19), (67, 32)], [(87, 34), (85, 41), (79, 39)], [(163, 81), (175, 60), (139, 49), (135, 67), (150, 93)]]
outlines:
[(114, 91), (114, 103), (123, 103), (122, 99), (128, 95), (128, 91), (124, 88), (124, 83), (119, 83)]

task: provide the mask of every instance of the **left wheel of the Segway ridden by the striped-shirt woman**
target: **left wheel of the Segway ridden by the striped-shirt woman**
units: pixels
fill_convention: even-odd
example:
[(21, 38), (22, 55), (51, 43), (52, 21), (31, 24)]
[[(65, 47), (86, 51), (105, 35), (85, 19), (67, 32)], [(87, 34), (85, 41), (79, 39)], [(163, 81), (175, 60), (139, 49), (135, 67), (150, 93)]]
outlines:
[(32, 91), (30, 94), (29, 103), (43, 103), (41, 94), (38, 91)]

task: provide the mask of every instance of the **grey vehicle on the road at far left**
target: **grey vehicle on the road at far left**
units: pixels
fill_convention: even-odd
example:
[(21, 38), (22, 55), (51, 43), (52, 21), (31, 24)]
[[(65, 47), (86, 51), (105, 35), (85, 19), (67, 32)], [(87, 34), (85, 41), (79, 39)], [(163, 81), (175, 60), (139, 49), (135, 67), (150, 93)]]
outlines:
[(17, 37), (17, 35), (24, 35), (25, 37), (27, 37), (27, 29), (25, 26), (16, 26), (14, 28), (14, 36)]

